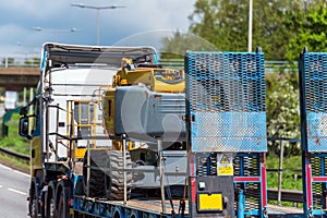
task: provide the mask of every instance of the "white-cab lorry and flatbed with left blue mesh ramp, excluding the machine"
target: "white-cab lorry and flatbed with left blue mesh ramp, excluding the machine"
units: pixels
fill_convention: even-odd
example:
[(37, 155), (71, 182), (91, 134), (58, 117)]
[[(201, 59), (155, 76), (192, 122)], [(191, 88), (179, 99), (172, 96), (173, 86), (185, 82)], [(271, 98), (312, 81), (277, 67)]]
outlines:
[[(23, 108), (20, 120), (21, 135), (32, 140), (29, 216), (267, 217), (261, 50), (187, 52), (184, 164), (172, 162), (168, 167), (174, 172), (168, 172), (166, 150), (158, 138), (153, 173), (160, 183), (160, 195), (157, 199), (136, 196), (128, 184), (129, 174), (137, 172), (128, 164), (126, 147), (133, 138), (119, 136), (123, 158), (117, 165), (123, 174), (119, 178), (123, 197), (107, 197), (104, 180), (112, 171), (104, 167), (100, 156), (90, 157), (95, 149), (110, 153), (114, 140), (104, 133), (101, 92), (110, 88), (122, 58), (145, 56), (157, 60), (152, 47), (44, 46), (38, 93), (28, 105), (35, 111), (29, 114), (28, 108)], [(183, 171), (182, 166), (187, 169)], [(102, 174), (92, 175), (94, 169)], [(166, 181), (169, 173), (184, 174), (179, 198), (171, 197), (174, 193)], [(95, 179), (102, 183), (92, 186)], [(95, 191), (101, 196), (92, 196)]]

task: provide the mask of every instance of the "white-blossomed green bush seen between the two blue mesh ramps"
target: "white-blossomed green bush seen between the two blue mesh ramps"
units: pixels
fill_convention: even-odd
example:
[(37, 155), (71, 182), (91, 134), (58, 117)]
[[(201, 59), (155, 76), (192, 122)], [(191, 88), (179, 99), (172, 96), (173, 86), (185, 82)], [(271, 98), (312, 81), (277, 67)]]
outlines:
[[(299, 80), (295, 72), (274, 73), (267, 76), (267, 135), (300, 138)], [(269, 143), (269, 150), (279, 153), (279, 142)], [(286, 156), (299, 155), (300, 149), (286, 147)]]

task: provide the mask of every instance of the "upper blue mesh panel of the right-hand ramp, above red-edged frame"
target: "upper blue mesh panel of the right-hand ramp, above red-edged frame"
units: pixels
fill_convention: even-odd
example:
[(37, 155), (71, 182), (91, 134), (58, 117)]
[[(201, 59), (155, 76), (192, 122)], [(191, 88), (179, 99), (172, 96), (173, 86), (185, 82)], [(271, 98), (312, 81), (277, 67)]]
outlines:
[(327, 53), (304, 52), (299, 65), (303, 146), (327, 152)]

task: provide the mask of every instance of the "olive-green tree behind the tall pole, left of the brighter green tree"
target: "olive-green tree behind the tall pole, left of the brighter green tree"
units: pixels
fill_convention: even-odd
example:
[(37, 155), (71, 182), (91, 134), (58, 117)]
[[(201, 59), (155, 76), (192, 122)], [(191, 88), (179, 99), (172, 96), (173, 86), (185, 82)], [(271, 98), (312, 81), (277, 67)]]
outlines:
[[(246, 51), (249, 1), (197, 0), (190, 31), (215, 44), (219, 50)], [(261, 0), (253, 5), (253, 48), (261, 46), (268, 60), (283, 60), (292, 32), (283, 23), (289, 11), (304, 11), (302, 0)]]

